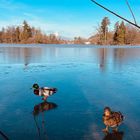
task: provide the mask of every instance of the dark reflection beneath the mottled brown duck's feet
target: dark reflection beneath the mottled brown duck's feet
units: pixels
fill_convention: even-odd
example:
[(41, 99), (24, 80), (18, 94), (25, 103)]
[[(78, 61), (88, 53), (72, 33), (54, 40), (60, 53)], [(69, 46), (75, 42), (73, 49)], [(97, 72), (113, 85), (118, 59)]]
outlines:
[(103, 140), (123, 140), (123, 132), (115, 131), (112, 133), (106, 133)]

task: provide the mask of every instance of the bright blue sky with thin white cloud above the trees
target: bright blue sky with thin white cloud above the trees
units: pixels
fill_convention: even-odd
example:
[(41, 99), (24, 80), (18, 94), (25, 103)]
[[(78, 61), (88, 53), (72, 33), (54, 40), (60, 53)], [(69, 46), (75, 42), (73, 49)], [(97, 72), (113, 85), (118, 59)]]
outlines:
[[(97, 1), (133, 21), (125, 0)], [(128, 1), (140, 23), (140, 1)], [(110, 28), (120, 20), (90, 0), (0, 0), (0, 28), (21, 25), (26, 20), (44, 33), (89, 37), (95, 33), (105, 16), (110, 18)]]

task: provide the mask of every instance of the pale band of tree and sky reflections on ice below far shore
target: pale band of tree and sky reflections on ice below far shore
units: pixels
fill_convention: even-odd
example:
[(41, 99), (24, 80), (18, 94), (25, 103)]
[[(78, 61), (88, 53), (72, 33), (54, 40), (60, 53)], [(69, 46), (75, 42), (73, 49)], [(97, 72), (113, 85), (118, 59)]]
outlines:
[(24, 64), (25, 69), (30, 63), (52, 63), (73, 60), (94, 63), (98, 62), (99, 68), (105, 72), (112, 64), (112, 67), (121, 67), (133, 58), (139, 58), (138, 48), (75, 48), (59, 46), (51, 47), (0, 47), (0, 63)]

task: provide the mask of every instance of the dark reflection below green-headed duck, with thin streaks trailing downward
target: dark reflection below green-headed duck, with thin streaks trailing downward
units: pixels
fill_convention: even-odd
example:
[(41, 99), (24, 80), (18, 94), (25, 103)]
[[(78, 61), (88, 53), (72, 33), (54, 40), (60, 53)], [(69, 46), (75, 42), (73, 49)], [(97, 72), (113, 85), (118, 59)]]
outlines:
[[(47, 133), (46, 133), (46, 128), (45, 128), (46, 125), (45, 125), (44, 112), (52, 110), (52, 109), (56, 109), (56, 108), (57, 108), (57, 105), (55, 103), (47, 102), (47, 101), (44, 101), (44, 102), (34, 106), (33, 116), (34, 116), (34, 121), (35, 121), (35, 125), (37, 128), (37, 132), (38, 132), (38, 136), (39, 136), (40, 140), (48, 139)], [(42, 126), (40, 126), (40, 123), (38, 122), (40, 119), (37, 120), (37, 116), (39, 117), (40, 115), (42, 116), (41, 117)]]

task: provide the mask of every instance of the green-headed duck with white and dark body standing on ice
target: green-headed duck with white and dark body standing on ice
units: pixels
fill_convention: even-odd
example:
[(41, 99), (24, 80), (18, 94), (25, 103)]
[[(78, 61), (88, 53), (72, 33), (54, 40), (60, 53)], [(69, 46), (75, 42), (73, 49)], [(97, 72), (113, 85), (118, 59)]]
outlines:
[(32, 89), (34, 90), (34, 94), (43, 97), (42, 100), (44, 101), (46, 101), (49, 96), (57, 92), (57, 88), (39, 87), (37, 83), (33, 84)]

